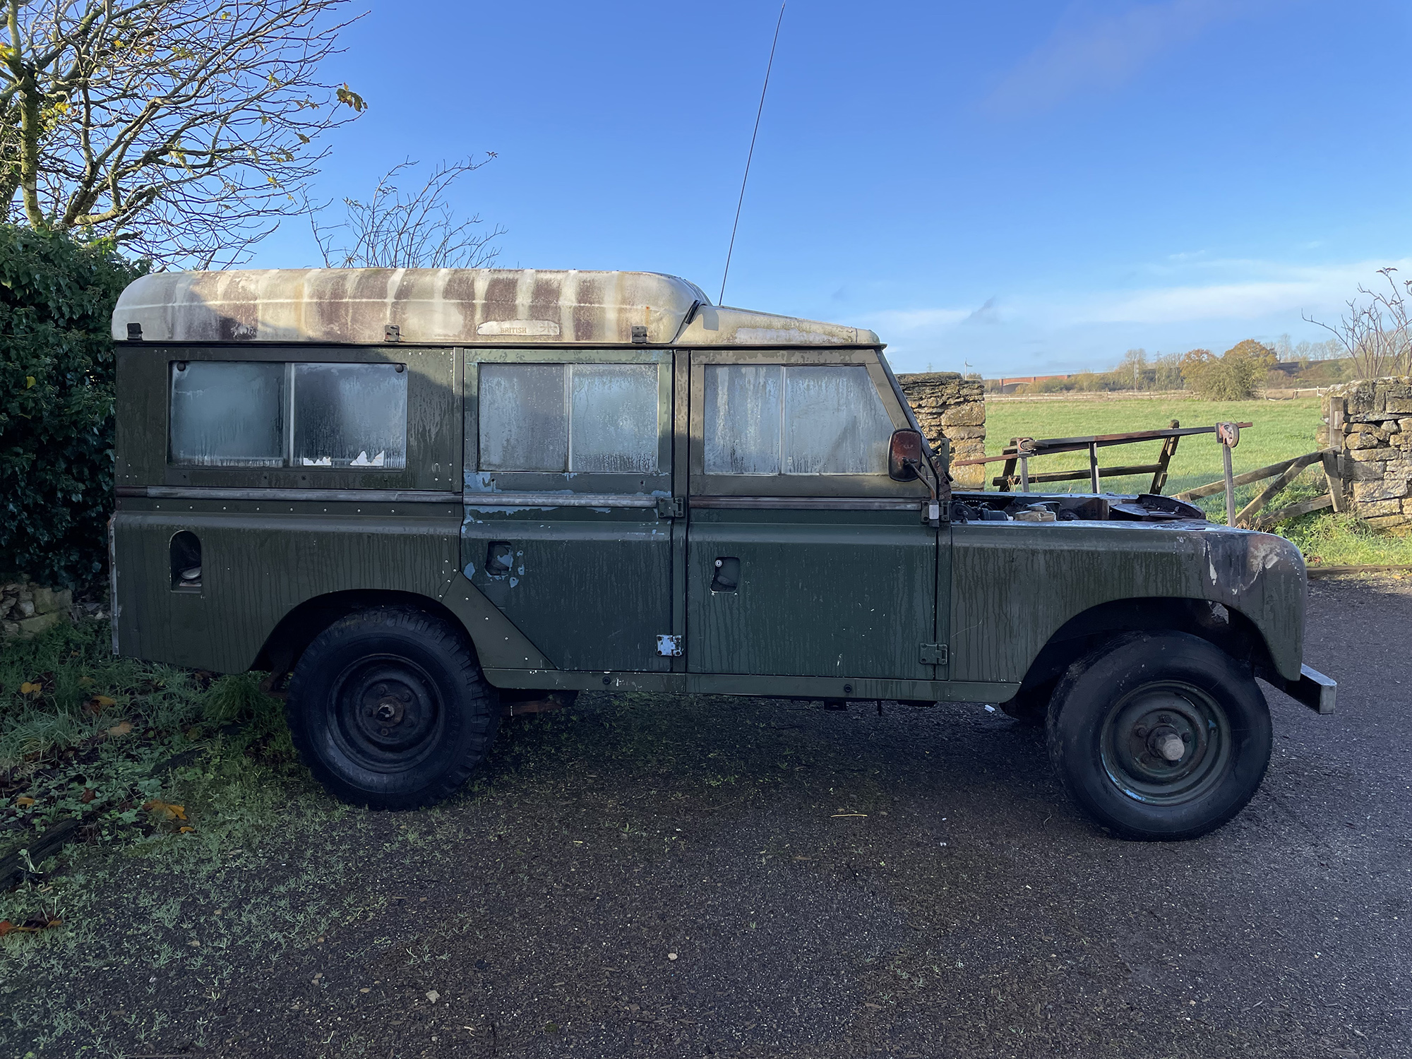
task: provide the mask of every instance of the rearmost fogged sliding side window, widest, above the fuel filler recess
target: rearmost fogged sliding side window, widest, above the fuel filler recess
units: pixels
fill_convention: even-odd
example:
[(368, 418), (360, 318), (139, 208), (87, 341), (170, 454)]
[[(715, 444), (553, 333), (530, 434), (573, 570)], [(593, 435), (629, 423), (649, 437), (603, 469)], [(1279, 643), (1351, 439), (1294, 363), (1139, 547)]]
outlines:
[(208, 467), (407, 466), (402, 364), (176, 361), (169, 459)]

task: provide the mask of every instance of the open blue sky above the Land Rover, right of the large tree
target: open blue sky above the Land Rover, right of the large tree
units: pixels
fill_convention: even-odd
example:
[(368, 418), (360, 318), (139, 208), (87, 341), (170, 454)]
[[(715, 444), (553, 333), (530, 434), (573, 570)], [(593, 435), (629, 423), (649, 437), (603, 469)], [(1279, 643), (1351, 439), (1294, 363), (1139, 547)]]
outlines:
[[(374, 3), (319, 181), (497, 158), (500, 264), (720, 288), (778, 4)], [(1324, 337), (1412, 278), (1406, 0), (791, 0), (726, 302), (868, 326), (898, 370), (1107, 367)], [(254, 265), (318, 264), (287, 222)]]

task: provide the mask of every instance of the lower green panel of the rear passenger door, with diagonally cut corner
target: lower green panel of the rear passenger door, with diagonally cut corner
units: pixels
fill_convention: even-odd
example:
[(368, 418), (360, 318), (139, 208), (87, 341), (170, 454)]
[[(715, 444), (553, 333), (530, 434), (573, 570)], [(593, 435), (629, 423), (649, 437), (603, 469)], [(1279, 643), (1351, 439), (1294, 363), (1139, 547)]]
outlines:
[[(491, 576), (491, 542), (514, 549)], [(460, 561), (472, 583), (559, 669), (668, 671), (671, 522), (655, 508), (466, 505)]]

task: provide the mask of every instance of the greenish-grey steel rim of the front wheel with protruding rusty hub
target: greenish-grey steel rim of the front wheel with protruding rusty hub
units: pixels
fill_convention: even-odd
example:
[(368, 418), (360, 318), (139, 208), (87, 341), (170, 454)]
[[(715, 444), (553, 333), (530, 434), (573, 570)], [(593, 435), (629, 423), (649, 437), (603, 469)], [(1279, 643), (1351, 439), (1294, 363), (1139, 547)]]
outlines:
[[(1182, 681), (1155, 681), (1124, 695), (1100, 731), (1103, 768), (1127, 798), (1183, 805), (1206, 795), (1231, 761), (1224, 707)], [(1180, 740), (1180, 757), (1175, 757)]]

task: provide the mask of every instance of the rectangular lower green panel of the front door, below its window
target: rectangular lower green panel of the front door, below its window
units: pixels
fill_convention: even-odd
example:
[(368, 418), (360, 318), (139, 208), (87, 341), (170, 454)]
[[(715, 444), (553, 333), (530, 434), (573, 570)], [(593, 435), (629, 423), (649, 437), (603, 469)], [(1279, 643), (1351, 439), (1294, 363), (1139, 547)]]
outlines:
[[(931, 681), (936, 535), (919, 511), (693, 510), (688, 669)], [(734, 592), (712, 590), (717, 558)]]

